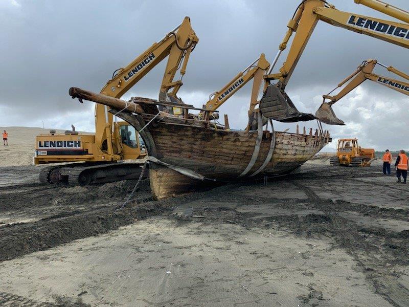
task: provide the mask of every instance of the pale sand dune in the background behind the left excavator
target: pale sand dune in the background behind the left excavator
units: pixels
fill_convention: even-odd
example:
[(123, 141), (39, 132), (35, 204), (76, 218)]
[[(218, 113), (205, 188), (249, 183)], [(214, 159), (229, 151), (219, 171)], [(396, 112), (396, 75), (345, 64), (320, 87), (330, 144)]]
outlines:
[[(0, 167), (32, 165), (35, 137), (39, 134), (48, 134), (50, 131), (50, 129), (31, 127), (0, 127), (2, 133), (3, 130), (6, 130), (9, 135), (9, 146), (3, 146), (2, 139), (0, 143)], [(57, 133), (64, 133), (65, 130), (57, 129), (56, 131)]]

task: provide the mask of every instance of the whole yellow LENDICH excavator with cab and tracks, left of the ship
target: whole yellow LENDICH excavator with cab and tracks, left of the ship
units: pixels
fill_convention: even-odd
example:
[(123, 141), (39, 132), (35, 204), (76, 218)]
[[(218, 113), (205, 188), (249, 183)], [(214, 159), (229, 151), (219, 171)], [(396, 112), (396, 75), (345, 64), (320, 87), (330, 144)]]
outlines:
[[(185, 17), (183, 22), (162, 40), (153, 43), (126, 67), (116, 70), (100, 93), (120, 98), (168, 56), (159, 98), (162, 101), (183, 103), (176, 94), (183, 84), (181, 78), (186, 73), (190, 53), (198, 41), (190, 18)], [(180, 79), (173, 81), (178, 70)], [(168, 113), (177, 109), (171, 108)], [(95, 135), (78, 134), (73, 128), (65, 131), (65, 134), (50, 131), (50, 134), (37, 136), (35, 164), (84, 162), (44, 168), (40, 172), (40, 182), (88, 185), (138, 178), (141, 172), (139, 163), (119, 163), (122, 160), (141, 157), (138, 131), (127, 122), (114, 122), (113, 115), (113, 110), (96, 104)]]

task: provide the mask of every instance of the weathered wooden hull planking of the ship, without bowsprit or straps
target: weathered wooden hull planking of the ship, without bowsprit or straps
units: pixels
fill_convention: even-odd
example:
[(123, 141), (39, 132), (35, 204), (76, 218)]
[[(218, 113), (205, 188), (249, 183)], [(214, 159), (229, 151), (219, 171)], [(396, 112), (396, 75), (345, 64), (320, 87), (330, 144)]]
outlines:
[[(151, 116), (145, 115), (145, 122)], [(151, 162), (150, 184), (156, 199), (186, 193), (195, 186), (213, 181), (231, 182), (249, 178), (273, 177), (289, 173), (311, 159), (328, 142), (323, 134), (293, 134), (276, 131), (274, 153), (265, 167), (254, 174), (267, 158), (273, 134), (263, 131), (260, 150), (254, 165), (245, 176), (240, 177), (252, 159), (257, 131), (234, 131), (215, 129), (212, 125), (202, 127), (192, 120), (190, 124), (173, 122), (172, 117), (153, 122), (148, 133), (154, 149), (148, 155), (173, 166), (193, 170), (206, 179), (192, 179), (166, 166)], [(141, 124), (140, 124), (141, 126)], [(152, 142), (151, 142), (152, 143)]]

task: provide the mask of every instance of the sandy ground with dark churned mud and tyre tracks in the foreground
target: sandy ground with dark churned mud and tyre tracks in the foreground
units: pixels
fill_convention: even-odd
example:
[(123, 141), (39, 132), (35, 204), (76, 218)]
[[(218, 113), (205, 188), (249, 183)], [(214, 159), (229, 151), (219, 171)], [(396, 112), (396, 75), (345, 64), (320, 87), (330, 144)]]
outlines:
[(408, 186), (325, 163), (123, 209), (133, 181), (1, 168), (0, 305), (408, 306)]

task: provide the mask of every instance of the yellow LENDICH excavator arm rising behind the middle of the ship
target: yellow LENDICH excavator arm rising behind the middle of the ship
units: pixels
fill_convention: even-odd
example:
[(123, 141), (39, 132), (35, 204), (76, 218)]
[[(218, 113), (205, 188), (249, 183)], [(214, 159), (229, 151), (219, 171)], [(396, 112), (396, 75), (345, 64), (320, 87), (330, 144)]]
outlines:
[[(255, 106), (257, 105), (257, 97), (260, 92), (260, 86), (263, 81), (263, 76), (266, 70), (270, 67), (270, 63), (266, 60), (264, 53), (260, 55), (259, 58), (254, 60), (250, 65), (248, 65), (243, 71), (238, 73), (234, 78), (228, 82), (224, 87), (217, 92), (210, 95), (209, 101), (203, 105), (204, 109), (216, 111), (224, 102), (226, 102), (230, 97), (232, 97), (238, 90), (240, 90), (248, 81), (253, 79), (252, 95), (250, 100), (249, 108), (249, 123), (251, 123), (251, 117)], [(200, 113), (200, 115), (202, 115)], [(210, 115), (211, 113), (209, 113)], [(218, 114), (215, 114), (218, 115)], [(224, 123), (229, 126), (227, 116), (224, 117)], [(249, 124), (250, 125), (250, 124)], [(249, 125), (247, 129), (249, 129)]]

